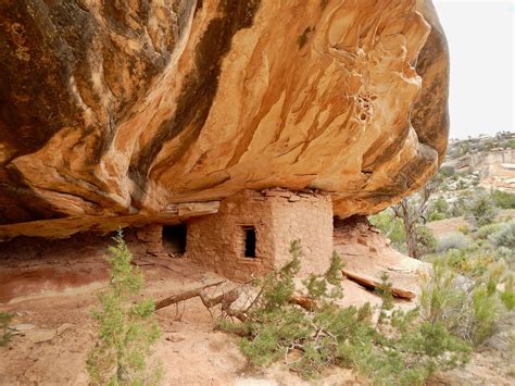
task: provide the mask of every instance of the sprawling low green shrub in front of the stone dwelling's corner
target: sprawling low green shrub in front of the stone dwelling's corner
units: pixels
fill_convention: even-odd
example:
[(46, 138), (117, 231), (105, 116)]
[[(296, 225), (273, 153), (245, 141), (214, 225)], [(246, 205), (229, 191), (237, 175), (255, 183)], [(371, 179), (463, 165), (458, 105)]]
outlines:
[[(291, 245), (292, 260), (260, 282), (259, 296), (242, 323), (225, 319), (219, 327), (242, 336), (240, 348), (251, 364), (269, 365), (278, 360), (305, 377), (331, 365), (350, 366), (373, 384), (422, 385), (435, 371), (463, 363), (469, 346), (440, 322), (420, 321), (416, 310), (392, 310), (391, 284), (382, 276), (378, 294), (384, 302), (377, 328), (367, 303), (340, 308), (340, 284), (331, 272), (303, 282), (303, 294), (314, 301), (305, 309), (290, 302), (302, 251)], [(331, 278), (329, 281), (329, 278)], [(341, 289), (341, 288), (340, 288)], [(389, 311), (389, 312), (386, 312)]]

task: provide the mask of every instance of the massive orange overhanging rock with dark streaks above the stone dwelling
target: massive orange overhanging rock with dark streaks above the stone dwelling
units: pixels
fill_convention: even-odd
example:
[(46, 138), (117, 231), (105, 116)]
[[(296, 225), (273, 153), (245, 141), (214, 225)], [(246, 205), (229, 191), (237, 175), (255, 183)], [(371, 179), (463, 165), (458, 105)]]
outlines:
[(274, 186), (366, 214), (447, 145), (430, 1), (3, 1), (0, 54), (0, 234)]

